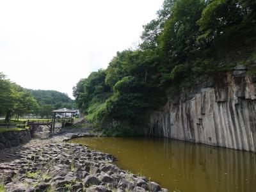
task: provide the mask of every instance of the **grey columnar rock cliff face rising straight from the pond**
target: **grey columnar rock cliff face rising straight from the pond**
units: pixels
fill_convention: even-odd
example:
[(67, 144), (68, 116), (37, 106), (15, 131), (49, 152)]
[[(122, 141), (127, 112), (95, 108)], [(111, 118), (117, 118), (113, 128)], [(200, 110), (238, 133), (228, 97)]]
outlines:
[[(204, 83), (202, 83), (204, 84)], [(237, 66), (189, 99), (168, 99), (143, 132), (194, 143), (256, 151), (256, 78)]]

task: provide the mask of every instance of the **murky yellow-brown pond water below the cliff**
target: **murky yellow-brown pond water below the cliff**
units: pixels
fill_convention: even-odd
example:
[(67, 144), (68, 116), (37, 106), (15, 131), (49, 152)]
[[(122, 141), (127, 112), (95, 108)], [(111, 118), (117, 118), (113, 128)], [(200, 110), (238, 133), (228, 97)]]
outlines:
[(123, 170), (142, 173), (169, 191), (256, 191), (252, 152), (163, 138), (77, 138), (70, 142), (113, 154)]

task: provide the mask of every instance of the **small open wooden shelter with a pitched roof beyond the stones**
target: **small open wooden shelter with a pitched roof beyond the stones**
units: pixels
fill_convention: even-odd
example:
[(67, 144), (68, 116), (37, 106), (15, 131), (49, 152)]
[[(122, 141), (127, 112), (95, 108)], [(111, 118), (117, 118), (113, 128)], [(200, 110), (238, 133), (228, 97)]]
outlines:
[(52, 116), (51, 132), (52, 132), (52, 129), (54, 131), (56, 122), (62, 123), (62, 127), (65, 127), (65, 124), (73, 124), (74, 123), (74, 116), (76, 114), (75, 110), (61, 108), (61, 109), (54, 110), (52, 112), (54, 113), (54, 115)]

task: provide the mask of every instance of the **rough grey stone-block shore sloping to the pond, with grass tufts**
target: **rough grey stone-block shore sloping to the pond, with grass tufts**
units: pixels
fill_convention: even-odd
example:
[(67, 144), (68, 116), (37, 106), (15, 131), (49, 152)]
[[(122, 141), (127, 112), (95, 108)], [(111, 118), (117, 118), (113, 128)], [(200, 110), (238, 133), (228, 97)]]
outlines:
[[(120, 170), (111, 154), (65, 143), (90, 134), (62, 134), (6, 148), (0, 154), (5, 191), (168, 191), (146, 177)], [(1, 191), (0, 188), (0, 191)]]

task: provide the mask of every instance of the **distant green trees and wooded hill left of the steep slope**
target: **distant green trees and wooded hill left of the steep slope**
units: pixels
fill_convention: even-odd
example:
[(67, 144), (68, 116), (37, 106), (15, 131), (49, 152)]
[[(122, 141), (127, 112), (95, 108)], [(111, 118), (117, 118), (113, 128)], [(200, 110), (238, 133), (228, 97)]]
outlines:
[(28, 90), (6, 79), (0, 72), (0, 116), (5, 122), (11, 117), (33, 114), (51, 116), (53, 109), (72, 108), (72, 100), (65, 94), (51, 90)]

